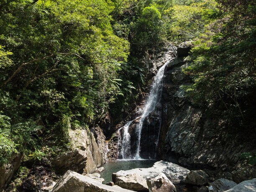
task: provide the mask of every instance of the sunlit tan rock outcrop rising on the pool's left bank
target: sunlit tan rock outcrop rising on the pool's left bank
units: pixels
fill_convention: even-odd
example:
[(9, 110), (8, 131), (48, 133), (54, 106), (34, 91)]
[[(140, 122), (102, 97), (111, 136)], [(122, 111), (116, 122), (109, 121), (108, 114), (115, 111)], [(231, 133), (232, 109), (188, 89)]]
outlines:
[(57, 172), (67, 170), (78, 173), (92, 173), (105, 163), (105, 136), (98, 126), (90, 131), (85, 129), (70, 130), (69, 136), (73, 149), (54, 158), (52, 164)]

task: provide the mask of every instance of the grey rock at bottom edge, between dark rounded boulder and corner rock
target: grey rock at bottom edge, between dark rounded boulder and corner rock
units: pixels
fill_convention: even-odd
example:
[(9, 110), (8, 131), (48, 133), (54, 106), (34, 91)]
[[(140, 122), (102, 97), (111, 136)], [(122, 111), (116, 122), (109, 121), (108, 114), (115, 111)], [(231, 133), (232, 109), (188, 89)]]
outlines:
[(209, 192), (223, 192), (232, 187), (235, 187), (237, 184), (233, 181), (228, 179), (217, 179), (216, 181), (212, 182), (209, 187)]

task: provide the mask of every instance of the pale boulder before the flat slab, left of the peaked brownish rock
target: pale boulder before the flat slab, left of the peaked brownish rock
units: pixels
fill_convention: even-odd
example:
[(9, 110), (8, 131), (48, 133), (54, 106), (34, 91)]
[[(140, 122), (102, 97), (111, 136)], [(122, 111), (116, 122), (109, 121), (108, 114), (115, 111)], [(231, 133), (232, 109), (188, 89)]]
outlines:
[(136, 173), (116, 177), (115, 184), (124, 189), (130, 189), (138, 192), (148, 192), (146, 179)]

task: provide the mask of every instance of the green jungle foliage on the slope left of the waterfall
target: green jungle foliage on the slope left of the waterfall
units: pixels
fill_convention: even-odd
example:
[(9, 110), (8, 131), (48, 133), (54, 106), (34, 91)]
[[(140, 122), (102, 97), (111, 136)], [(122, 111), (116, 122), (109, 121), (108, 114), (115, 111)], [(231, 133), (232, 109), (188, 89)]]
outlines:
[(67, 143), (69, 128), (122, 118), (146, 80), (139, 57), (164, 41), (161, 13), (171, 4), (1, 1), (0, 164), (33, 154), (47, 134)]

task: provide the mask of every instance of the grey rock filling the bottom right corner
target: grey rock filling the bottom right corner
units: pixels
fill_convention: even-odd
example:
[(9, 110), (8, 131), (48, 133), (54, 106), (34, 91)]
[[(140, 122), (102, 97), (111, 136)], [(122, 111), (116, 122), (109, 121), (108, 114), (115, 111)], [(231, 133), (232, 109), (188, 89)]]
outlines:
[(256, 179), (243, 181), (225, 192), (256, 192)]

